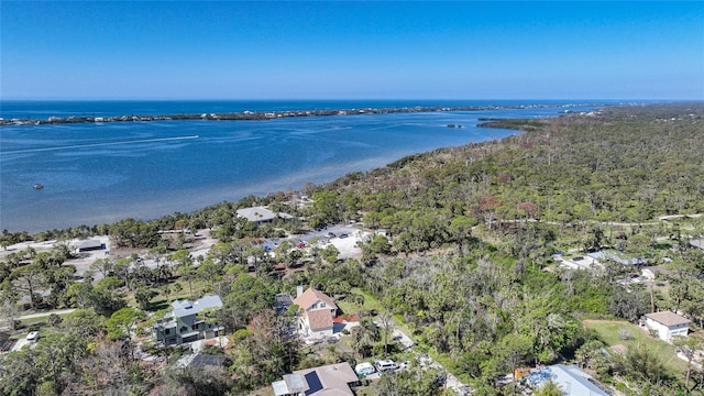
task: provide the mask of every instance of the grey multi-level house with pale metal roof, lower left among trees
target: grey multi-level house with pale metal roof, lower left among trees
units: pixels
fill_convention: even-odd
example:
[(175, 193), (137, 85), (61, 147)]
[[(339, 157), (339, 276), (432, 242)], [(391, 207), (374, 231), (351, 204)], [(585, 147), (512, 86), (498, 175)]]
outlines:
[(166, 315), (162, 323), (154, 326), (154, 338), (165, 344), (180, 345), (202, 339), (218, 337), (223, 330), (218, 323), (206, 321), (204, 311), (222, 308), (218, 296), (205, 296), (196, 301), (176, 300), (173, 310)]

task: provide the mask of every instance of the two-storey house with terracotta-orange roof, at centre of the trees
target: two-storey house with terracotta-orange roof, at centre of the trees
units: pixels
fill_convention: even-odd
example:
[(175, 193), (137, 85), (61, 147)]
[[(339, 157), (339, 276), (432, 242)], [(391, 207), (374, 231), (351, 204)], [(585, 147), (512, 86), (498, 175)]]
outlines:
[(298, 286), (294, 304), (302, 310), (298, 320), (298, 332), (302, 337), (320, 339), (333, 334), (332, 318), (338, 312), (338, 306), (332, 298), (312, 287), (302, 292), (302, 287)]

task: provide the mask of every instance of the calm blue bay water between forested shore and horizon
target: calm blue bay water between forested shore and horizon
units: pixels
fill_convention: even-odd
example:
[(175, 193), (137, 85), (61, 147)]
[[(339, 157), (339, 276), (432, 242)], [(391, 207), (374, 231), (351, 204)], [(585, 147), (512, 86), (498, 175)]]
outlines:
[[(3, 102), (2, 117), (486, 105), (287, 103)], [(515, 133), (475, 128), (482, 117), (547, 117), (562, 110), (4, 127), (0, 129), (0, 229), (35, 232), (128, 217), (151, 219), (223, 200), (235, 201), (248, 195), (299, 189), (308, 182), (329, 182), (350, 172), (384, 166), (405, 155)], [(450, 129), (448, 123), (464, 128)], [(35, 183), (43, 184), (44, 189), (33, 189)]]

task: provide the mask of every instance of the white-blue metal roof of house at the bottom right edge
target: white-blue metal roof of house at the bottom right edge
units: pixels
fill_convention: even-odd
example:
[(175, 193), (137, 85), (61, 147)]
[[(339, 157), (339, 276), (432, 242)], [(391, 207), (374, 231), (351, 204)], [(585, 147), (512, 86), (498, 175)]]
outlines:
[(608, 396), (610, 393), (576, 365), (553, 364), (525, 376), (534, 389), (544, 385), (548, 378), (558, 384), (569, 396)]

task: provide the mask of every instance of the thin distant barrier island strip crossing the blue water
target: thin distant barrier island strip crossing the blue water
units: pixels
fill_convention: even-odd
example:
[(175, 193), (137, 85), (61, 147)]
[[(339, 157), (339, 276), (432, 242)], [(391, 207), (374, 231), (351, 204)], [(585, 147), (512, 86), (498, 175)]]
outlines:
[[(266, 121), (280, 118), (293, 117), (323, 117), (323, 116), (361, 116), (361, 114), (389, 114), (389, 113), (418, 113), (439, 111), (482, 111), (482, 110), (508, 110), (508, 109), (546, 109), (546, 108), (572, 108), (584, 106), (603, 106), (601, 103), (566, 103), (566, 105), (513, 105), (513, 106), (452, 106), (452, 107), (394, 107), (394, 108), (363, 108), (363, 109), (338, 109), (338, 110), (277, 110), (277, 111), (243, 111), (229, 113), (190, 113), (190, 114), (165, 114), (165, 116), (108, 116), (108, 117), (55, 117), (46, 119), (0, 119), (0, 127), (10, 125), (47, 125), (47, 124), (72, 124), (72, 123), (102, 123), (102, 122), (148, 122), (148, 121), (185, 121), (185, 120), (208, 120), (208, 121)], [(565, 112), (570, 112), (565, 110)]]

